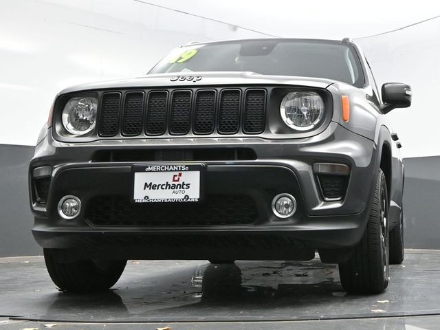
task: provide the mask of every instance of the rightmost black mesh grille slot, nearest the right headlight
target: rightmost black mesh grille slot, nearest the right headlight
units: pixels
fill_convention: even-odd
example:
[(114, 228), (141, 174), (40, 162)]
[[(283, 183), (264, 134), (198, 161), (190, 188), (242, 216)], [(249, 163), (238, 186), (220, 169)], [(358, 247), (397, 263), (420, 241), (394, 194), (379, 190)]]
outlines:
[(261, 133), (265, 120), (265, 91), (263, 89), (246, 92), (243, 130), (246, 133)]

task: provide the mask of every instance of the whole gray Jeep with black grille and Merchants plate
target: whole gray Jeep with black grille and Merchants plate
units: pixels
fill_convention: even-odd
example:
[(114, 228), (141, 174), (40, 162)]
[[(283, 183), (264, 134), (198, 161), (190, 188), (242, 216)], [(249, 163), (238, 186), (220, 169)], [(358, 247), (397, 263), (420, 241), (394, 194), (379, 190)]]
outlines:
[(140, 78), (61, 91), (30, 162), (32, 230), (63, 291), (127, 259), (314, 259), (347, 292), (404, 259), (401, 144), (358, 45), (190, 43)]

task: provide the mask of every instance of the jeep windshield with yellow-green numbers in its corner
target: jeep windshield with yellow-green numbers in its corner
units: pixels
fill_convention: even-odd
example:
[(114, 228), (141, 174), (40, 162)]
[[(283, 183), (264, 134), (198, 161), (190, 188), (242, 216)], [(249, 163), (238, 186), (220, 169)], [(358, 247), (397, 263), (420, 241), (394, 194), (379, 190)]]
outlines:
[(353, 47), (332, 41), (261, 39), (179, 47), (149, 73), (219, 71), (329, 78), (356, 87), (364, 85)]

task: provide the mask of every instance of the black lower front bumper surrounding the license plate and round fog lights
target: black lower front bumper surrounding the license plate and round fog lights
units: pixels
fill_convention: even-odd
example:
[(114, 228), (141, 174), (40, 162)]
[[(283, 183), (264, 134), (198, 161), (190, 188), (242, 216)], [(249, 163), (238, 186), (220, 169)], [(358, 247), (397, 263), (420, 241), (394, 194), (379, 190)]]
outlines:
[[(360, 241), (369, 212), (309, 215), (295, 171), (279, 164), (206, 166), (204, 199), (192, 206), (131, 203), (132, 175), (131, 166), (102, 164), (56, 170), (47, 216), (35, 218), (36, 241), (94, 258), (311, 259), (315, 250), (344, 254)], [(272, 211), (272, 199), (283, 192), (298, 203), (286, 219)], [(76, 219), (58, 214), (65, 195), (82, 201)], [(97, 198), (104, 201), (99, 208)]]

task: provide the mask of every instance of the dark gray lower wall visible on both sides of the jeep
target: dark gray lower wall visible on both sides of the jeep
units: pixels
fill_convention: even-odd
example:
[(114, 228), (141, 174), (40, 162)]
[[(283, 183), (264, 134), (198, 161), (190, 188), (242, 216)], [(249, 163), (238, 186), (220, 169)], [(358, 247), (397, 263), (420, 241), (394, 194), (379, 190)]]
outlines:
[[(32, 146), (0, 144), (0, 256), (41, 254), (31, 234), (28, 163)], [(406, 248), (440, 249), (440, 156), (405, 163)]]

